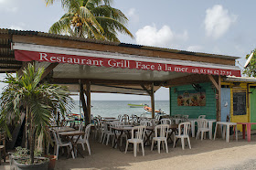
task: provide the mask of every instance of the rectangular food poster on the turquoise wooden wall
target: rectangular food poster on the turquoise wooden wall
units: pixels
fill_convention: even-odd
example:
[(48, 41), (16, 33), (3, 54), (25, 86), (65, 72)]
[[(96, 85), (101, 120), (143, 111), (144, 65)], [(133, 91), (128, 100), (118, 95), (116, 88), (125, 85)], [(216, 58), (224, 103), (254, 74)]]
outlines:
[(206, 91), (180, 90), (177, 91), (178, 106), (206, 106)]

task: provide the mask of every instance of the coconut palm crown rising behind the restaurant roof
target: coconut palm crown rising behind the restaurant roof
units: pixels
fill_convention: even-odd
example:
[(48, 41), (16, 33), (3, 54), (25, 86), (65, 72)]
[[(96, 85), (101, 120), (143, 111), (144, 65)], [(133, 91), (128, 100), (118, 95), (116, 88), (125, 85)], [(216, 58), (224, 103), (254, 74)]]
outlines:
[[(47, 5), (53, 2), (54, 0), (46, 0)], [(113, 8), (111, 2), (111, 0), (61, 0), (67, 13), (49, 28), (49, 33), (118, 42), (118, 32), (133, 37), (125, 27), (127, 17), (121, 10)]]

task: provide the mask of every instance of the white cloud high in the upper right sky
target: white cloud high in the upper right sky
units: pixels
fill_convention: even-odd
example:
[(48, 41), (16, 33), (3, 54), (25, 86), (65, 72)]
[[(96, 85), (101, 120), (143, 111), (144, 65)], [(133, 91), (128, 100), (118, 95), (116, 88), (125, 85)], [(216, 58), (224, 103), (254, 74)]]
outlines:
[(215, 39), (222, 37), (233, 23), (236, 22), (236, 15), (229, 14), (222, 5), (214, 5), (206, 10), (205, 29), (208, 37)]

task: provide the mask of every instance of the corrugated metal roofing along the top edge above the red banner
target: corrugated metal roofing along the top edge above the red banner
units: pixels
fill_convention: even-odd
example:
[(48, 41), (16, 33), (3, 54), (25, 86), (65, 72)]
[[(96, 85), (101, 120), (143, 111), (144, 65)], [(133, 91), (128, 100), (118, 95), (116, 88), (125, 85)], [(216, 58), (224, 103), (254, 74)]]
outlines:
[(96, 44), (105, 44), (105, 45), (112, 45), (112, 46), (120, 46), (120, 47), (127, 47), (127, 48), (142, 48), (142, 49), (148, 49), (148, 50), (158, 50), (158, 51), (165, 51), (165, 52), (170, 52), (170, 53), (193, 55), (193, 56), (199, 56), (199, 57), (228, 58), (228, 59), (237, 59), (237, 58), (239, 58), (239, 57), (233, 57), (233, 56), (218, 55), (218, 54), (208, 54), (208, 53), (201, 53), (201, 52), (192, 52), (192, 51), (170, 49), (170, 48), (156, 48), (156, 47), (141, 46), (141, 45), (135, 45), (135, 44), (120, 43), (120, 42), (102, 41), (102, 40), (83, 38), (83, 37), (69, 37), (69, 36), (49, 34), (49, 33), (38, 32), (38, 31), (29, 31), (29, 30), (21, 31), (21, 30), (13, 30), (13, 29), (1, 28), (0, 29), (0, 34), (37, 35), (37, 36), (41, 36), (41, 37), (53, 37), (53, 38), (69, 39), (69, 40), (75, 40), (75, 41), (90, 42), (90, 43), (96, 43)]

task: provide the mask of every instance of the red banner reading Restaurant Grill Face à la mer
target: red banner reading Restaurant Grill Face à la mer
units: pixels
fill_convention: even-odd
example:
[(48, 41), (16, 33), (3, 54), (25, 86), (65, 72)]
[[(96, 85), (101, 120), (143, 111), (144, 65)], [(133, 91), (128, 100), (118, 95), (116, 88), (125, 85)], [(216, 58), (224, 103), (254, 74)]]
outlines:
[(47, 61), (51, 63), (68, 63), (88, 66), (103, 66), (107, 68), (123, 68), (123, 69), (144, 69), (158, 71), (175, 71), (197, 74), (225, 75), (240, 77), (240, 70), (236, 69), (218, 69), (196, 66), (184, 66), (175, 64), (165, 64), (147, 61), (138, 61), (130, 59), (117, 58), (95, 58), (86, 56), (76, 56), (67, 54), (56, 54), (48, 52), (37, 52), (27, 50), (15, 50), (15, 58), (19, 61)]

